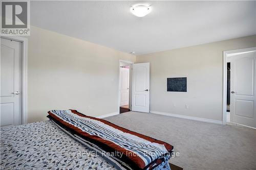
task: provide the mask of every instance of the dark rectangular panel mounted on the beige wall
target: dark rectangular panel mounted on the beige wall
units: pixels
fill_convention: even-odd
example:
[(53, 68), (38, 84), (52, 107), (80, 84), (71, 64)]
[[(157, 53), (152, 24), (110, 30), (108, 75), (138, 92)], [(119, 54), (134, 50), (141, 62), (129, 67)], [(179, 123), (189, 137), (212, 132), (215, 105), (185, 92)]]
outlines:
[(187, 78), (167, 78), (167, 91), (187, 91)]

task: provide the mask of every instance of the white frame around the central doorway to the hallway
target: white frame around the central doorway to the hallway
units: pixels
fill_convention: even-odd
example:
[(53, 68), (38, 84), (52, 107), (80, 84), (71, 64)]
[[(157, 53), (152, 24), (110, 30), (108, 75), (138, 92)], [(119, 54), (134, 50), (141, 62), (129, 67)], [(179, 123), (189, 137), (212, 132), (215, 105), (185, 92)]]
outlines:
[(120, 66), (121, 66), (121, 62), (122, 63), (126, 63), (126, 64), (128, 64), (129, 66), (130, 66), (130, 71), (129, 71), (129, 74), (130, 74), (130, 76), (129, 76), (129, 81), (130, 81), (130, 83), (129, 83), (129, 86), (130, 86), (130, 89), (129, 89), (129, 95), (130, 95), (130, 97), (129, 97), (129, 108), (130, 108), (130, 110), (132, 110), (131, 108), (131, 106), (132, 106), (132, 69), (133, 69), (133, 63), (134, 62), (132, 62), (132, 61), (126, 61), (126, 60), (119, 60), (119, 67), (118, 67), (118, 71), (119, 71), (119, 78), (118, 78), (118, 114), (120, 114)]

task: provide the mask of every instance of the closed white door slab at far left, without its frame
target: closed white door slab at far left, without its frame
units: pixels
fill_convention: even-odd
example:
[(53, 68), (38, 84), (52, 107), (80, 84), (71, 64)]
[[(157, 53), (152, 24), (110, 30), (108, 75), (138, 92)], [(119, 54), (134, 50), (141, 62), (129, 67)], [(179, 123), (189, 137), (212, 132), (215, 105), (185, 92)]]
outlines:
[(22, 43), (1, 38), (1, 127), (22, 124)]

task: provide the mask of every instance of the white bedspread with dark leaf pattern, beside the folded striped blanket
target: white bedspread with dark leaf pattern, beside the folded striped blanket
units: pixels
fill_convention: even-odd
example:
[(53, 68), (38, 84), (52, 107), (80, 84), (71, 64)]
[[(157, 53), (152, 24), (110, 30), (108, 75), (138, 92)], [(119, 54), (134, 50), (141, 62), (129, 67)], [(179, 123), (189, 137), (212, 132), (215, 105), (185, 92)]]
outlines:
[(116, 170), (50, 120), (1, 129), (0, 169)]

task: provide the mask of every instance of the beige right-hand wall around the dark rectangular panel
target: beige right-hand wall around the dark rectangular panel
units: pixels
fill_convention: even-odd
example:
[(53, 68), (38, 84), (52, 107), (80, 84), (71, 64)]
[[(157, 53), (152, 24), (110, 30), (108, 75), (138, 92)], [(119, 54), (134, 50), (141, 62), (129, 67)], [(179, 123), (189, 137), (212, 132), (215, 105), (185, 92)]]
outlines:
[[(137, 56), (151, 66), (150, 110), (222, 121), (223, 51), (252, 46), (256, 35)], [(167, 92), (170, 77), (187, 77), (187, 92)]]

